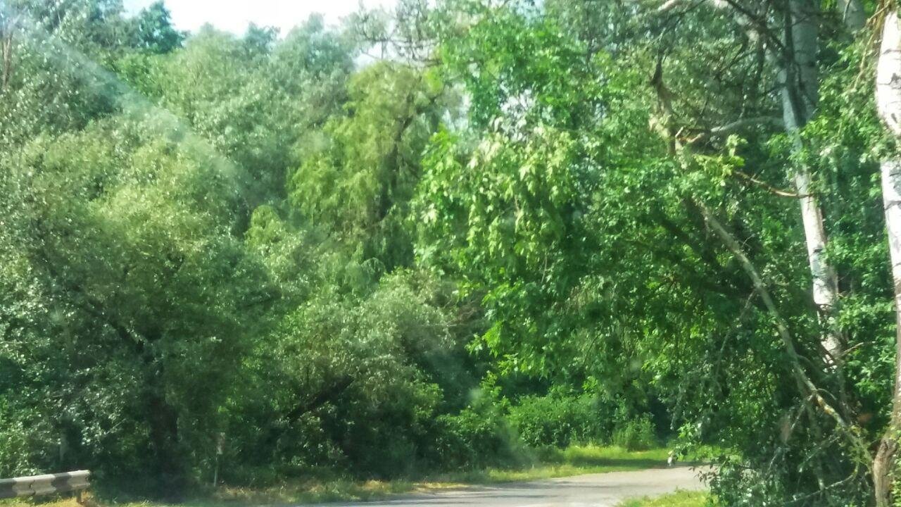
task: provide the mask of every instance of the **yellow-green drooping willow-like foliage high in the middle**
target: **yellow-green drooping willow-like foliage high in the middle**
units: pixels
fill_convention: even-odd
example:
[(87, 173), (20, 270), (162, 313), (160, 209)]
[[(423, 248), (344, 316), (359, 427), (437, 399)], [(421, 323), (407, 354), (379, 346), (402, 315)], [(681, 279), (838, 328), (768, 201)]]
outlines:
[(337, 115), (290, 182), (290, 201), (306, 220), (387, 270), (411, 263), (403, 226), (421, 172), (419, 155), (444, 109), (441, 84), (427, 73), (381, 62), (348, 83)]

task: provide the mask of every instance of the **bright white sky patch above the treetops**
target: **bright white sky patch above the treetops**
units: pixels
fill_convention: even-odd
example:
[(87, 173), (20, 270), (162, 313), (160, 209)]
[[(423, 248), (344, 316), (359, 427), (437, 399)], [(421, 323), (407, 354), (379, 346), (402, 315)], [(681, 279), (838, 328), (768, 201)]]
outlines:
[[(137, 13), (154, 0), (124, 0), (125, 8)], [(391, 6), (396, 0), (165, 0), (178, 30), (194, 32), (205, 23), (220, 30), (243, 33), (250, 23), (275, 26), (287, 33), (313, 13), (325, 16), (326, 23), (366, 7)]]

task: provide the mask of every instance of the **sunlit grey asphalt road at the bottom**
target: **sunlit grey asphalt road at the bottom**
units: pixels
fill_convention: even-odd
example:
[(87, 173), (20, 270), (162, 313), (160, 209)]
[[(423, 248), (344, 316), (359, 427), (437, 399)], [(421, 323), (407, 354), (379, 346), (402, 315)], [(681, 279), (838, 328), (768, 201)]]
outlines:
[(614, 507), (627, 498), (677, 489), (699, 490), (697, 470), (688, 466), (639, 472), (577, 475), (532, 483), (471, 486), (397, 496), (379, 502), (330, 503), (329, 507)]

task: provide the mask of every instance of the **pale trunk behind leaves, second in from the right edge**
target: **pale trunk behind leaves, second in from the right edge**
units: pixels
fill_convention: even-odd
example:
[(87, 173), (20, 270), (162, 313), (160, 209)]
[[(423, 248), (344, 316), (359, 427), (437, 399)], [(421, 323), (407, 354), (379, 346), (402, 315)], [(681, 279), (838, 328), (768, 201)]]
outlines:
[[(785, 14), (785, 54), (782, 56), (779, 84), (782, 88), (782, 112), (786, 131), (794, 143), (796, 154), (804, 149), (799, 131), (814, 115), (819, 99), (817, 71), (817, 17), (819, 9), (812, 0), (790, 0)], [(830, 362), (837, 361), (842, 352), (839, 333), (832, 329), (838, 303), (838, 279), (833, 267), (826, 262), (826, 231), (823, 211), (812, 190), (810, 169), (799, 161), (794, 174), (795, 189), (801, 202), (807, 261), (813, 277), (814, 303), (820, 318), (830, 327), (822, 344)]]

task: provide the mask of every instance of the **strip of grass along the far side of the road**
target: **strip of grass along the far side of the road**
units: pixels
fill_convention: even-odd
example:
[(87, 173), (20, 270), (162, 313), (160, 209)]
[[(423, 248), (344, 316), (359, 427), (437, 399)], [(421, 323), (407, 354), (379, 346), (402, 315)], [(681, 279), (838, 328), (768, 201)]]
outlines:
[[(378, 500), (396, 493), (434, 491), (465, 487), (467, 484), (493, 484), (533, 481), (580, 474), (623, 472), (666, 466), (669, 450), (654, 448), (628, 451), (621, 447), (573, 446), (566, 449), (541, 449), (523, 460), (526, 465), (493, 467), (482, 470), (429, 475), (418, 480), (354, 481), (316, 479), (287, 481), (268, 488), (221, 487), (208, 496), (188, 499), (186, 507), (246, 507), (298, 503)], [(102, 502), (89, 500), (89, 506), (163, 507), (155, 502)], [(0, 501), (0, 507), (34, 507), (28, 500)], [(40, 502), (41, 507), (79, 507), (74, 499)], [(644, 505), (638, 503), (635, 505)], [(667, 504), (669, 505), (669, 504)], [(678, 504), (681, 505), (681, 504)], [(694, 504), (687, 503), (686, 505)], [(631, 507), (631, 505), (630, 505)]]

